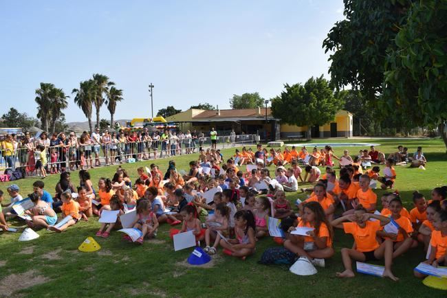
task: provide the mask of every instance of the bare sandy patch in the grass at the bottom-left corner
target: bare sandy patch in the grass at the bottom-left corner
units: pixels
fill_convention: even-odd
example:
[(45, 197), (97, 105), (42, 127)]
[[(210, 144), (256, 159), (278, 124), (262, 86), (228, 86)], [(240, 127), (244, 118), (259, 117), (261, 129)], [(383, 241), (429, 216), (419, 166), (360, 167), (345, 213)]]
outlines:
[(49, 278), (39, 275), (38, 271), (30, 270), (25, 273), (11, 274), (0, 281), (0, 293), (3, 296), (10, 296), (14, 291), (30, 288), (38, 284), (45, 284)]

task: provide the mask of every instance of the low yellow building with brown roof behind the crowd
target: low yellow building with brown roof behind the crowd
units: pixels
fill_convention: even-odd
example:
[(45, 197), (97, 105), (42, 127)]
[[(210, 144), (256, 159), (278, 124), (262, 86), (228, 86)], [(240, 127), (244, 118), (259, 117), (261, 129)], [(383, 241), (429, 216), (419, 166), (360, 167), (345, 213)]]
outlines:
[[(182, 131), (194, 130), (207, 133), (214, 127), (219, 135), (226, 135), (231, 130), (236, 133), (256, 134), (262, 139), (287, 139), (301, 137), (352, 137), (352, 114), (340, 110), (334, 121), (324, 126), (314, 126), (308, 137), (307, 126), (290, 126), (280, 124), (281, 119), (272, 116), (270, 108), (247, 108), (235, 110), (199, 110), (190, 108), (187, 111), (167, 117), (168, 122), (178, 122)], [(273, 133), (272, 133), (273, 132)]]

